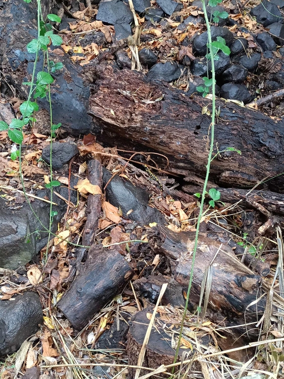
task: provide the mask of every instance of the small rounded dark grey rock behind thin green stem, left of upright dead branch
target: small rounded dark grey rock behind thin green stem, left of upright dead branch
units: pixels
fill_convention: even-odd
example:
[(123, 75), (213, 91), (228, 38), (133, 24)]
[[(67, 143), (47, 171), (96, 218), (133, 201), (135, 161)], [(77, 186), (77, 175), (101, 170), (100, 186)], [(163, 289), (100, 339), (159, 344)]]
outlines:
[[(52, 168), (60, 170), (70, 161), (74, 155), (78, 154), (78, 148), (74, 143), (53, 142), (52, 144)], [(50, 145), (45, 146), (42, 150), (42, 159), (50, 165)]]

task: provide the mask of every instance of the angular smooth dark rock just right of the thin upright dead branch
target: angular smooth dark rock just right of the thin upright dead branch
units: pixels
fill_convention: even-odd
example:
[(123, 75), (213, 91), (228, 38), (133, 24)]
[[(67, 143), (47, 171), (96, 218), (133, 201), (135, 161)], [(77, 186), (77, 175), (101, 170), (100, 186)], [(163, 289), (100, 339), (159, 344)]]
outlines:
[[(103, 168), (103, 185), (105, 185), (112, 174)], [(140, 187), (135, 187), (129, 181), (116, 175), (106, 187), (106, 198), (115, 207), (120, 207), (125, 218), (149, 225), (150, 222), (164, 223), (163, 215), (157, 208), (148, 206), (149, 194)], [(132, 212), (127, 214), (130, 209)]]

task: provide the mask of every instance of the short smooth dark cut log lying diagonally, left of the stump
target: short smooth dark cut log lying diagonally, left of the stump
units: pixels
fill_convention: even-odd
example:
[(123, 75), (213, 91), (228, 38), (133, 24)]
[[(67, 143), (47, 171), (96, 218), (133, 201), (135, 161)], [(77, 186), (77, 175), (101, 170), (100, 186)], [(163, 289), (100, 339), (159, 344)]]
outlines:
[(93, 245), (87, 261), (78, 271), (58, 307), (74, 328), (81, 330), (96, 312), (122, 291), (132, 270), (116, 250)]

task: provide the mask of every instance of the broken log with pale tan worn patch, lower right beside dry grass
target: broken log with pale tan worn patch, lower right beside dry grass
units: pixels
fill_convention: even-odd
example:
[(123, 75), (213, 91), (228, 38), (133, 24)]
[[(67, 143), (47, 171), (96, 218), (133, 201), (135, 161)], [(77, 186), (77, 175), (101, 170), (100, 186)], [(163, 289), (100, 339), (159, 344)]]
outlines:
[[(151, 228), (148, 241), (155, 252), (172, 258), (172, 271), (176, 281), (187, 291), (191, 270), (194, 232), (175, 233), (164, 227)], [(252, 303), (262, 293), (261, 277), (254, 275), (242, 264), (226, 243), (214, 241), (200, 234), (193, 269), (193, 281), (190, 291), (189, 306), (195, 309), (199, 304), (200, 287), (206, 270), (212, 268), (212, 284), (206, 315), (213, 322), (223, 322), (226, 326), (256, 323), (263, 314), (265, 297), (260, 299), (257, 307)], [(257, 335), (257, 330), (248, 326), (250, 336)], [(246, 327), (234, 329), (240, 334)]]

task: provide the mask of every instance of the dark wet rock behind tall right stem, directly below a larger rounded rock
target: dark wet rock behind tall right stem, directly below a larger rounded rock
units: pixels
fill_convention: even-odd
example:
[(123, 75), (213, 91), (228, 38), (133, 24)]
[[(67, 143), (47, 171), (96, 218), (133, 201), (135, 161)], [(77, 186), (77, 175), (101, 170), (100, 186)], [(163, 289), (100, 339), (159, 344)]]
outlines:
[[(221, 75), (221, 73), (227, 69), (230, 65), (230, 57), (224, 53), (218, 53), (219, 60), (214, 61), (214, 67), (215, 67), (215, 74)], [(208, 71), (209, 71), (209, 77), (212, 76), (212, 63), (211, 61), (208, 62)], [(207, 76), (207, 59), (204, 58), (197, 58), (191, 63), (190, 72), (192, 75), (196, 76)]]

